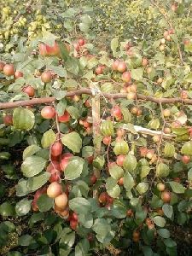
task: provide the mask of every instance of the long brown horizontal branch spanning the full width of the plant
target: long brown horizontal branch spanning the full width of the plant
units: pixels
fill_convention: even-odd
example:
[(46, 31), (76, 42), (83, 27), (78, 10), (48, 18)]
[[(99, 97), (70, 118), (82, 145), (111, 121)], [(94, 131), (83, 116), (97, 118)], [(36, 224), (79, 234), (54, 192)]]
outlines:
[[(71, 96), (82, 95), (82, 94), (94, 96), (92, 93), (92, 90), (90, 89), (79, 89), (79, 90), (69, 91), (67, 92), (66, 96), (71, 97)], [(126, 99), (127, 94), (126, 93), (114, 93), (114, 94), (102, 93), (102, 96), (105, 96), (108, 99), (121, 99), (121, 98)], [(183, 103), (187, 105), (192, 105), (192, 99), (156, 98), (154, 96), (145, 96), (142, 94), (137, 94), (137, 100), (154, 102), (157, 104)], [(51, 104), (55, 101), (56, 101), (56, 98), (52, 96), (52, 97), (44, 97), (44, 98), (32, 98), (31, 100), (18, 101), (18, 102), (3, 102), (3, 103), (0, 103), (0, 109), (26, 107), (26, 106), (33, 106), (33, 105), (39, 105), (39, 104)]]

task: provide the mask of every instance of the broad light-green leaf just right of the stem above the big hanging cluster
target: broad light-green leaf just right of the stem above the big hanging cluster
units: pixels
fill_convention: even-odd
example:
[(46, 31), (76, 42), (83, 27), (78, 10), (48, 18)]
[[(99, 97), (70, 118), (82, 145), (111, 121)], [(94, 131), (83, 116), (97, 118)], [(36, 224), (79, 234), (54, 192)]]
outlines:
[(61, 137), (62, 143), (74, 153), (79, 153), (82, 148), (82, 139), (76, 131), (65, 134)]

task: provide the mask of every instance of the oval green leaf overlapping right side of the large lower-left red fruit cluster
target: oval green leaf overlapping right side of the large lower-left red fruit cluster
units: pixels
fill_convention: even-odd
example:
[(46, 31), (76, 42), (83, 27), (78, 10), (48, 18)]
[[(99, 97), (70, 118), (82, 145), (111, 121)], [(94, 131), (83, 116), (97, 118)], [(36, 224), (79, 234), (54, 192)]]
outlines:
[(65, 178), (67, 180), (73, 180), (80, 177), (84, 169), (84, 160), (79, 156), (74, 156), (69, 160), (65, 169)]

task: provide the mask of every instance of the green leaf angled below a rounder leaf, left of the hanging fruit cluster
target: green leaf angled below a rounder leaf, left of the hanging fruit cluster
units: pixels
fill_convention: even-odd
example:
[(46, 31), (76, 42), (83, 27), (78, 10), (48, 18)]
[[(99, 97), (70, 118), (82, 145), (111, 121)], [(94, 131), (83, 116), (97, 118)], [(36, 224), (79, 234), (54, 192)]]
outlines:
[(31, 191), (35, 191), (41, 188), (49, 180), (49, 177), (49, 172), (44, 172), (36, 177), (30, 177), (26, 183), (27, 188)]

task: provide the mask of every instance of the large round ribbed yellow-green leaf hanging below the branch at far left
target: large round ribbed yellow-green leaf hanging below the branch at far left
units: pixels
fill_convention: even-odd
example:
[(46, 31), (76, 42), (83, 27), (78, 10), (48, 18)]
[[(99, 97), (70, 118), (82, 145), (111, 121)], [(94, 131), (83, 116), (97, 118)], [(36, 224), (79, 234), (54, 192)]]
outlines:
[(35, 116), (31, 110), (26, 108), (15, 108), (13, 113), (15, 129), (29, 131), (35, 124)]

